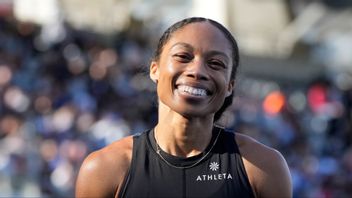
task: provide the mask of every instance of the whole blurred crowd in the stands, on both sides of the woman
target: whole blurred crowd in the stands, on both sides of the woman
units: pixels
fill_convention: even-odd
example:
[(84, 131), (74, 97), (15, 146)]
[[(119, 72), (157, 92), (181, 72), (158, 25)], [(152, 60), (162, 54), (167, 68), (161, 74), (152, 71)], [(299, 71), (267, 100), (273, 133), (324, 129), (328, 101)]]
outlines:
[[(0, 18), (0, 197), (72, 197), (90, 152), (156, 123), (142, 24), (116, 35)], [(245, 65), (242, 65), (245, 67)], [(352, 194), (352, 91), (243, 77), (223, 121), (283, 153), (294, 197)]]

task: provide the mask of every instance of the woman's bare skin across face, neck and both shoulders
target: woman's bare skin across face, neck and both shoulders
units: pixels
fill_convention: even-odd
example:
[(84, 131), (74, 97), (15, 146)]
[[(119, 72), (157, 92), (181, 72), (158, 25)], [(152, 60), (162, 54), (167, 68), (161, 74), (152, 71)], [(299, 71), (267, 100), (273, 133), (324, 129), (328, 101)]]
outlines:
[[(191, 157), (206, 148), (214, 114), (234, 87), (231, 65), (231, 46), (210, 23), (191, 23), (173, 33), (160, 60), (150, 66), (159, 97), (155, 138), (162, 150)], [(190, 94), (185, 86), (203, 95)], [(290, 173), (282, 155), (248, 136), (236, 134), (235, 138), (255, 196), (291, 197)], [(76, 197), (117, 197), (132, 147), (129, 136), (90, 154), (79, 171)]]

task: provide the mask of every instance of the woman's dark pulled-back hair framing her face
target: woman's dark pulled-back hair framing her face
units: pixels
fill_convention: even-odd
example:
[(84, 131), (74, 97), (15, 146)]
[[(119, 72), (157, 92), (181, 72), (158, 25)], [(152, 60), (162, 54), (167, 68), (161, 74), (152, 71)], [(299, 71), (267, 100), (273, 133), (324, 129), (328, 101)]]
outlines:
[[(218, 28), (224, 36), (230, 41), (231, 47), (232, 47), (232, 59), (233, 59), (233, 65), (232, 65), (232, 70), (231, 70), (231, 80), (235, 79), (236, 72), (237, 72), (237, 67), (239, 65), (239, 52), (238, 52), (238, 46), (235, 38), (232, 36), (231, 32), (227, 30), (222, 24), (212, 20), (212, 19), (207, 19), (207, 18), (202, 18), (202, 17), (191, 17), (191, 18), (186, 18), (183, 19), (179, 22), (176, 22), (172, 26), (170, 26), (164, 34), (160, 37), (157, 48), (154, 52), (153, 55), (153, 60), (158, 61), (160, 58), (160, 54), (163, 51), (164, 45), (169, 41), (171, 38), (172, 34), (176, 32), (177, 30), (183, 28), (184, 26), (191, 24), (191, 23), (199, 23), (199, 22), (209, 22), (216, 28)], [(229, 107), (232, 104), (234, 92), (232, 91), (231, 95), (225, 98), (225, 101), (221, 108), (215, 113), (214, 116), (214, 121), (218, 120), (222, 113), (226, 110), (227, 107)]]

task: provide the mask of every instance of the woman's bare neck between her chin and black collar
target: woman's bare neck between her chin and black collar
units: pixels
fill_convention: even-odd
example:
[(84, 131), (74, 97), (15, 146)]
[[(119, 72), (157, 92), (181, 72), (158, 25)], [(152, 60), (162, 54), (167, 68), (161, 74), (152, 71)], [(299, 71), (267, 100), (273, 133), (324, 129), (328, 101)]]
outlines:
[[(159, 106), (160, 108), (160, 106)], [(191, 157), (205, 150), (213, 129), (213, 118), (186, 118), (176, 112), (159, 112), (155, 139), (159, 147), (174, 156)]]

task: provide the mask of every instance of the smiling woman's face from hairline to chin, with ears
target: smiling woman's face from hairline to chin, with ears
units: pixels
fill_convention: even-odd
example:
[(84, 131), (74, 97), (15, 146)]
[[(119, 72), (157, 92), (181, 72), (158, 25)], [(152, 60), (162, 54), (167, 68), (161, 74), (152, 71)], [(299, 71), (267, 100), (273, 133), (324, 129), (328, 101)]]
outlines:
[(159, 102), (186, 117), (214, 114), (232, 92), (231, 50), (224, 34), (209, 22), (176, 30), (150, 67)]

